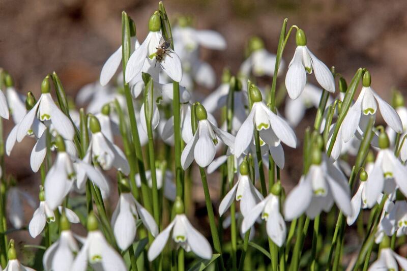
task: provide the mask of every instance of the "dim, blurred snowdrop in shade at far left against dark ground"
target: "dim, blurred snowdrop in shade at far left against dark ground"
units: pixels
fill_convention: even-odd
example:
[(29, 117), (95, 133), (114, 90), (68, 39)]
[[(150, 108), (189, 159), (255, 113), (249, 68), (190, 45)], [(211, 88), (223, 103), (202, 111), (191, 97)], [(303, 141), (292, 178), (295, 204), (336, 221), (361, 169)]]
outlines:
[(24, 224), (24, 209), (22, 204), (23, 200), (25, 200), (32, 208), (37, 207), (37, 202), (30, 194), (21, 191), (15, 186), (12, 186), (8, 189), (7, 217), (9, 218), (11, 225), (13, 225), (15, 229), (21, 229)]

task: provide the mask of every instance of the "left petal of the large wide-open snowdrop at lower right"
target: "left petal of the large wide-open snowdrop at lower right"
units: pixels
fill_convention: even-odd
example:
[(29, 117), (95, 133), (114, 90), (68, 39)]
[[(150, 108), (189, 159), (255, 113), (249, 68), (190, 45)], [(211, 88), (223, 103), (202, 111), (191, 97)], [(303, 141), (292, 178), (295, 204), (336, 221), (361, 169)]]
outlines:
[(284, 217), (292, 221), (300, 217), (311, 203), (312, 187), (308, 179), (301, 177), (299, 184), (291, 190), (284, 201)]

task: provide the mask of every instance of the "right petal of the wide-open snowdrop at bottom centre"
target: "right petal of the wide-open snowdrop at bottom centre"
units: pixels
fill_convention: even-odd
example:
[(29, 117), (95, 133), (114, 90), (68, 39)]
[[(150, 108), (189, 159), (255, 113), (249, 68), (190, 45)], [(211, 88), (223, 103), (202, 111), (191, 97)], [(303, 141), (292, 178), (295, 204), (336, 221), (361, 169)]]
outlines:
[(191, 225), (185, 215), (180, 216), (185, 226), (188, 245), (190, 246), (193, 253), (195, 253), (202, 259), (211, 259), (212, 248), (208, 240)]

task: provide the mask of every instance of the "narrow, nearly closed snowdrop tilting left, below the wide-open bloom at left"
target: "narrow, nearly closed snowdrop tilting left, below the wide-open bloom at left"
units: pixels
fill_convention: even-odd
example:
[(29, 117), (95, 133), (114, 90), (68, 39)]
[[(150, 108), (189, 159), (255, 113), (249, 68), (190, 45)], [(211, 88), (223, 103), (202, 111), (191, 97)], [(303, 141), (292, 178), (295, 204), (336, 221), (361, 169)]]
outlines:
[(76, 180), (73, 162), (66, 152), (65, 142), (61, 136), (55, 138), (55, 145), (58, 153), (44, 182), (45, 199), (51, 210), (62, 204)]

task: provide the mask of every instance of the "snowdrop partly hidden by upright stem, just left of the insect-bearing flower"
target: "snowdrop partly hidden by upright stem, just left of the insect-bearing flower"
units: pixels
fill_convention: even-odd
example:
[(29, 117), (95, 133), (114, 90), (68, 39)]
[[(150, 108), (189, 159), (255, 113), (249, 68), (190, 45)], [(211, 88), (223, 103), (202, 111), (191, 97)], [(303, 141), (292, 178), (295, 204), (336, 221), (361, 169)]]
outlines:
[[(134, 49), (138, 48), (140, 44), (136, 38), (136, 25), (134, 24), (133, 20), (130, 20), (130, 51), (134, 51)], [(112, 55), (107, 58), (107, 61), (103, 65), (102, 71), (100, 72), (100, 84), (105, 86), (109, 83), (113, 75), (119, 69), (120, 63), (122, 62), (122, 45), (114, 51)]]

